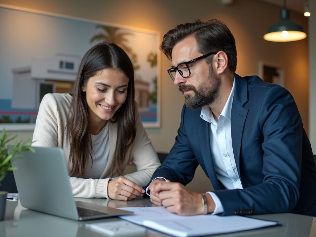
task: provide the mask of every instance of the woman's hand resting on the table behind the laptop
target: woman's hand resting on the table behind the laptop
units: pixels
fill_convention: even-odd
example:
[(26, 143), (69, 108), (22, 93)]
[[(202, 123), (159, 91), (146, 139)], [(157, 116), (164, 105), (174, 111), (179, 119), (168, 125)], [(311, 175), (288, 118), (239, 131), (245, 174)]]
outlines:
[(133, 200), (137, 196), (143, 197), (144, 192), (142, 187), (124, 177), (110, 180), (107, 185), (107, 195), (116, 200)]

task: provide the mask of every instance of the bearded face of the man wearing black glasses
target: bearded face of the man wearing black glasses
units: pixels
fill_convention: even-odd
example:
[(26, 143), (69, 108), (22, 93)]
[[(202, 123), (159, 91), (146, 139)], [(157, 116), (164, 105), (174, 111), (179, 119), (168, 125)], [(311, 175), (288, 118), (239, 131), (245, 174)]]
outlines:
[[(190, 36), (173, 47), (172, 65), (176, 67), (180, 63), (188, 62), (202, 55), (197, 51), (195, 38)], [(221, 84), (212, 64), (207, 64), (204, 58), (189, 64), (189, 67), (190, 76), (183, 78), (177, 71), (174, 78), (174, 84), (179, 86), (179, 91), (184, 95), (185, 105), (190, 109), (196, 109), (212, 104), (218, 98)]]

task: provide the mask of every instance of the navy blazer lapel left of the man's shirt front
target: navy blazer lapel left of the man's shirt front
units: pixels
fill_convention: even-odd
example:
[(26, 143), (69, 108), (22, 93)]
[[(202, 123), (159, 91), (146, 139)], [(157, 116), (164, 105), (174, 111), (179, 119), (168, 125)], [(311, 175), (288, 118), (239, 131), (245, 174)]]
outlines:
[(198, 142), (200, 145), (200, 150), (203, 156), (203, 161), (205, 164), (205, 168), (207, 170), (207, 175), (213, 185), (214, 190), (221, 189), (218, 183), (218, 179), (215, 173), (213, 157), (211, 153), (211, 145), (210, 145), (210, 124), (197, 116), (196, 119), (197, 125), (197, 135)]

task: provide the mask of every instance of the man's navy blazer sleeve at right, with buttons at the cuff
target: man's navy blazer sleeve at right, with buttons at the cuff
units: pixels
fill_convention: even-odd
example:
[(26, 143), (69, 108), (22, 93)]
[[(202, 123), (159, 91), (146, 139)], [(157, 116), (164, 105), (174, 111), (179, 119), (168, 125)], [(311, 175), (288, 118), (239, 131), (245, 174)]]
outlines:
[(254, 169), (247, 169), (247, 159), (242, 160), (241, 155), (240, 169), (245, 170), (248, 179), (255, 179), (262, 172), (263, 182), (244, 189), (214, 191), (223, 205), (224, 216), (290, 212), (299, 199), (302, 122), (295, 101), (284, 88), (272, 87), (258, 106), (258, 129), (264, 139), (258, 152), (247, 159), (253, 159), (252, 164), (263, 161), (263, 167), (261, 171), (258, 167), (258, 173), (251, 173)]

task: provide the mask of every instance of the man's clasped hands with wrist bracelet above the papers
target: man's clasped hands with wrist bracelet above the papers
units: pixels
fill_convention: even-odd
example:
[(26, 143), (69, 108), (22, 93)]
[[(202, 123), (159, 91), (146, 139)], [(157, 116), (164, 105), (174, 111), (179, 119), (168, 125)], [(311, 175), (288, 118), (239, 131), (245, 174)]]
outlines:
[[(201, 193), (193, 192), (180, 183), (155, 179), (149, 185), (150, 201), (157, 206), (165, 206), (172, 213), (193, 216), (204, 213)], [(205, 194), (208, 213), (213, 212), (215, 203), (210, 194)]]

